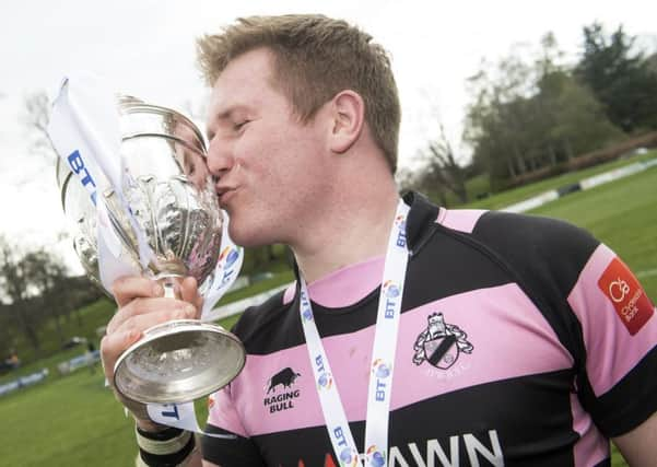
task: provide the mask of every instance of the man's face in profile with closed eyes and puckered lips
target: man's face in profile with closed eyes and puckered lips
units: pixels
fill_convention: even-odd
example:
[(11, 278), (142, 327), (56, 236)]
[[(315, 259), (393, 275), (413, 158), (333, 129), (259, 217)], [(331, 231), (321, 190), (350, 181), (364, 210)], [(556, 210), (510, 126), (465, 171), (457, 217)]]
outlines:
[[(216, 80), (208, 116), (208, 166), (231, 236), (245, 246), (293, 244), (326, 184), (327, 119), (301, 124), (272, 86), (271, 56), (256, 49)], [(317, 213), (315, 213), (317, 215)]]

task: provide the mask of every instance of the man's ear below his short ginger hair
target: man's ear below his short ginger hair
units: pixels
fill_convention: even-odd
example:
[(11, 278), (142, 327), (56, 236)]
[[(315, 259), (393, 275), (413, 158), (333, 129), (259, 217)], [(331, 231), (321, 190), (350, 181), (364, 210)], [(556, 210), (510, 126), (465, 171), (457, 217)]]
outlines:
[(365, 122), (365, 102), (355, 91), (340, 91), (331, 100), (330, 150), (342, 154), (359, 139)]

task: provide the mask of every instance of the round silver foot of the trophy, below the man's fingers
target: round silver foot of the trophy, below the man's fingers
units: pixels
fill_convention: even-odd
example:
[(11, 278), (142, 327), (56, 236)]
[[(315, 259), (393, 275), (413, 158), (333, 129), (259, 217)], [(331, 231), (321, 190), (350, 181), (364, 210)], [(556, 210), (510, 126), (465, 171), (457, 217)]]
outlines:
[(244, 367), (246, 351), (221, 326), (178, 319), (153, 326), (114, 367), (114, 384), (142, 404), (187, 402), (221, 389)]

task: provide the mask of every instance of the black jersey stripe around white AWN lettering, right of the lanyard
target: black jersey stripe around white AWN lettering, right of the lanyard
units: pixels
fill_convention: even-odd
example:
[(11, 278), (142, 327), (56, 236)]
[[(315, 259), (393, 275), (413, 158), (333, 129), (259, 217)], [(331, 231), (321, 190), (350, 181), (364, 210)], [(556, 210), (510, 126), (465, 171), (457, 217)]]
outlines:
[(491, 452), (496, 451), (496, 439), (505, 466), (572, 466), (572, 446), (578, 439), (572, 429), (572, 371), (559, 371), (511, 378), (418, 402), (395, 412), (392, 427), (400, 428), (395, 434), (407, 446), (432, 424), (444, 446), (460, 436), (464, 465), (469, 465), (466, 434), (471, 433)]

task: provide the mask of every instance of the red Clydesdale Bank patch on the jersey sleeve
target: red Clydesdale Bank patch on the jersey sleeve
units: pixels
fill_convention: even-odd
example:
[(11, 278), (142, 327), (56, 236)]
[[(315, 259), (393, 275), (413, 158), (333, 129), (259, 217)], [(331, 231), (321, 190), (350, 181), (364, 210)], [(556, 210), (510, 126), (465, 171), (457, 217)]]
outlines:
[(611, 301), (617, 315), (634, 336), (655, 314), (655, 307), (630, 268), (613, 258), (598, 280), (598, 287)]

